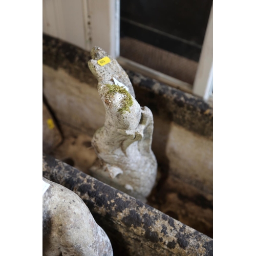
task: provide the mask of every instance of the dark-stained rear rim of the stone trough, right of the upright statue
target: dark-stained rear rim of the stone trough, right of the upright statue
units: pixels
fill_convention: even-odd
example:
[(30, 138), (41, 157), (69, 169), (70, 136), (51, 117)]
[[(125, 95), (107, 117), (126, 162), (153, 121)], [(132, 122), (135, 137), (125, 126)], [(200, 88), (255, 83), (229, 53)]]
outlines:
[(141, 105), (146, 105), (153, 114), (166, 121), (173, 121), (188, 131), (212, 140), (213, 110), (208, 103), (155, 79), (125, 71)]

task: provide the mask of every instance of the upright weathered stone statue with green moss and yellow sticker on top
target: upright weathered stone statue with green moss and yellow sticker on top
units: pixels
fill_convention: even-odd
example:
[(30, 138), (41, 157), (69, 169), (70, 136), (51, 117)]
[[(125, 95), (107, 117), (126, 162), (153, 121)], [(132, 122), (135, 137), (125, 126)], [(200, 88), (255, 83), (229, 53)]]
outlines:
[[(152, 112), (136, 101), (132, 83), (115, 59), (99, 47), (92, 49), (91, 56), (88, 65), (98, 79), (105, 107), (104, 126), (92, 139), (98, 156), (92, 175), (145, 202), (157, 174), (151, 150)], [(101, 66), (103, 61), (106, 64)]]

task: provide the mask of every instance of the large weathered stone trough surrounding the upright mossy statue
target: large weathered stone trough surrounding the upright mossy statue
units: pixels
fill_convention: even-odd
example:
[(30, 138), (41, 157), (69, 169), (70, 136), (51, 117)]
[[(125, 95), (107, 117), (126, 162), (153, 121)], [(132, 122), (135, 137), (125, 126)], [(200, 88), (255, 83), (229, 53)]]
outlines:
[(137, 101), (154, 116), (158, 175), (144, 204), (89, 175), (91, 140), (105, 117), (90, 58), (43, 36), (43, 176), (81, 197), (114, 255), (212, 255), (212, 106), (125, 70)]

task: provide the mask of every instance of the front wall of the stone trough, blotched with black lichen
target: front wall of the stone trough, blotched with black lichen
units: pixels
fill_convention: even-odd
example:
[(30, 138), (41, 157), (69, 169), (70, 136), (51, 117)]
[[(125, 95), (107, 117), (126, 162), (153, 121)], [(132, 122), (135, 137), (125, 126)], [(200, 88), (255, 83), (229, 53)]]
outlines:
[(87, 204), (116, 255), (213, 255), (209, 237), (53, 157), (43, 156), (43, 176)]

